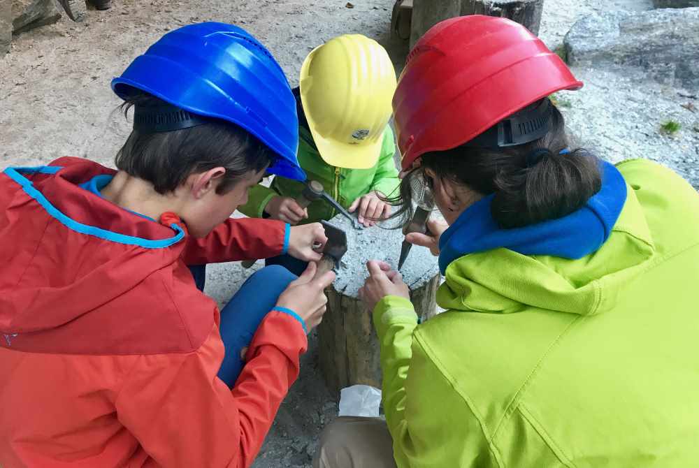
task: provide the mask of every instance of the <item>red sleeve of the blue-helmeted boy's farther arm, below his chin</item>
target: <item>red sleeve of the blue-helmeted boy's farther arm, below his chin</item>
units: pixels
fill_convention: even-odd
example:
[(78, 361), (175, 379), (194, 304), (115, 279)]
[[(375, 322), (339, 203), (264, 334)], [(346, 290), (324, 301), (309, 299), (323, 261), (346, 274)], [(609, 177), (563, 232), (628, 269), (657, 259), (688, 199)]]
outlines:
[(206, 237), (187, 237), (182, 260), (203, 265), (286, 254), (290, 233), (290, 226), (282, 221), (230, 218)]

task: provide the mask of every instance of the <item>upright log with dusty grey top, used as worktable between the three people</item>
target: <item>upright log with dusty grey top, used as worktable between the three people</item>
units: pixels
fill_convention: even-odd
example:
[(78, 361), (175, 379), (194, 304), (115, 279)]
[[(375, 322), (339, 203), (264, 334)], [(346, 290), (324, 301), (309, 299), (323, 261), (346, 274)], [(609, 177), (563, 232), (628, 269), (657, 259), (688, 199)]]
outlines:
[[(331, 391), (356, 383), (381, 388), (380, 346), (370, 312), (357, 297), (367, 277), (364, 264), (369, 259), (396, 265), (403, 235), (400, 230), (365, 228), (356, 231), (342, 217), (332, 224), (347, 233), (347, 254), (338, 278), (326, 291), (328, 309), (318, 326), (319, 363)], [(403, 279), (411, 288), (410, 300), (422, 320), (436, 313), (435, 294), (441, 276), (437, 259), (423, 247), (413, 247), (403, 265)]]

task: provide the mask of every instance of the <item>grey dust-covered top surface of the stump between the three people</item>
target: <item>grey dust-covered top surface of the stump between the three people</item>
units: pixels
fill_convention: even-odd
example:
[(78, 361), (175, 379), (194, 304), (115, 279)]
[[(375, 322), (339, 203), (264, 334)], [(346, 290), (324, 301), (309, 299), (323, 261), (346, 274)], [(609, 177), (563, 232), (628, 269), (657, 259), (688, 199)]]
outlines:
[[(330, 220), (331, 224), (344, 229), (347, 233), (347, 253), (340, 261), (336, 270), (337, 279), (333, 287), (338, 293), (356, 298), (359, 288), (363, 286), (368, 276), (366, 262), (381, 260), (391, 267), (398, 268), (398, 258), (401, 256), (403, 233), (400, 229), (387, 229), (373, 226), (361, 230), (354, 229), (349, 219), (338, 214)], [(395, 225), (395, 221), (388, 221)], [(425, 247), (413, 246), (410, 255), (401, 269), (403, 281), (412, 291), (421, 288), (435, 275), (439, 275), (437, 257)]]

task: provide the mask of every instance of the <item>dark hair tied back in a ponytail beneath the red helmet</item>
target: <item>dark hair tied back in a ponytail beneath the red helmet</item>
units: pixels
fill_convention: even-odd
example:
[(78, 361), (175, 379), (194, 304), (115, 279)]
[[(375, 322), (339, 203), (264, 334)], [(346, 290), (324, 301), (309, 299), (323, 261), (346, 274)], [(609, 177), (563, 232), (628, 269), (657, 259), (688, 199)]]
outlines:
[(525, 145), (460, 146), (424, 154), (421, 168), (403, 178), (400, 193), (386, 199), (400, 207), (392, 217), (402, 216), (403, 224), (410, 219), (411, 181), (426, 168), (440, 180), (482, 195), (494, 193), (491, 213), (500, 228), (519, 228), (575, 212), (602, 187), (599, 161), (582, 148), (561, 154), (568, 149), (568, 138), (563, 115), (555, 107), (552, 123), (545, 136)]

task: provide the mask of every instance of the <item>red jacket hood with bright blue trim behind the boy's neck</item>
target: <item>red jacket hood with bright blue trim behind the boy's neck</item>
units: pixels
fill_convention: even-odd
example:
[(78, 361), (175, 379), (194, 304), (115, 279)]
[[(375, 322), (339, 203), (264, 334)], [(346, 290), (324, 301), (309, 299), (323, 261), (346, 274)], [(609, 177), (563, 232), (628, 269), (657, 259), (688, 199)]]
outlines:
[(5, 335), (56, 328), (102, 307), (175, 262), (185, 244), (179, 219), (144, 219), (78, 187), (115, 171), (82, 159), (54, 164), (0, 175)]

